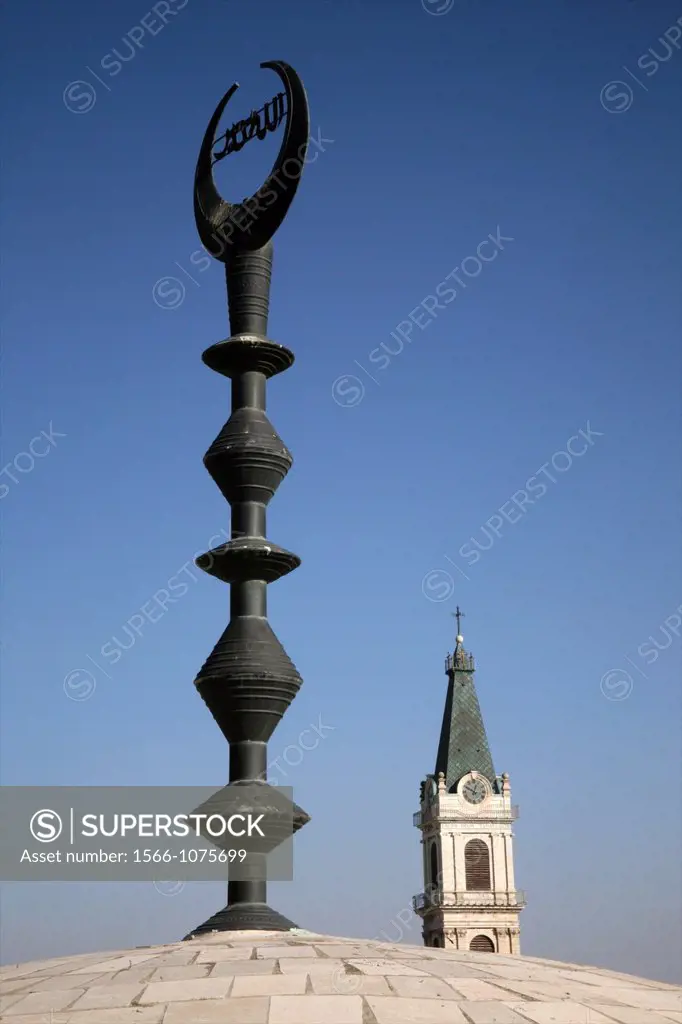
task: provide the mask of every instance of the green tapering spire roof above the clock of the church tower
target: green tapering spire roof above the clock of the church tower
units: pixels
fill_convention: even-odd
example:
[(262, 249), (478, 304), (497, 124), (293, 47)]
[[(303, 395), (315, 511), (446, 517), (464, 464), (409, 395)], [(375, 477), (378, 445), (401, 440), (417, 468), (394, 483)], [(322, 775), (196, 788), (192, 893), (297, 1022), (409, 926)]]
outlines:
[(469, 771), (480, 772), (496, 787), (493, 757), (474, 685), (474, 659), (462, 644), (458, 634), (455, 652), (445, 659), (447, 696), (435, 766), (436, 777), (438, 772), (445, 776), (449, 793)]

